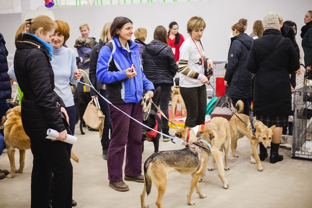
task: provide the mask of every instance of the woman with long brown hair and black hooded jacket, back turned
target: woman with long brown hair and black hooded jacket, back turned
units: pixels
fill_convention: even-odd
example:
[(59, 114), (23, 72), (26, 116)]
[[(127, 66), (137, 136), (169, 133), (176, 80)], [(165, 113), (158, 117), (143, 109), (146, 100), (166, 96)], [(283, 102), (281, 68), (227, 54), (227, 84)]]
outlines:
[[(144, 74), (154, 84), (155, 89), (160, 86), (159, 100), (153, 100), (168, 118), (168, 104), (173, 86), (173, 77), (178, 72), (178, 65), (173, 52), (168, 46), (167, 30), (163, 26), (157, 26), (154, 31), (154, 40), (145, 46), (142, 53), (144, 60)], [(153, 106), (154, 111), (157, 109)], [(161, 116), (162, 132), (169, 135), (169, 125), (166, 118)], [(163, 136), (163, 141), (170, 141)]]

